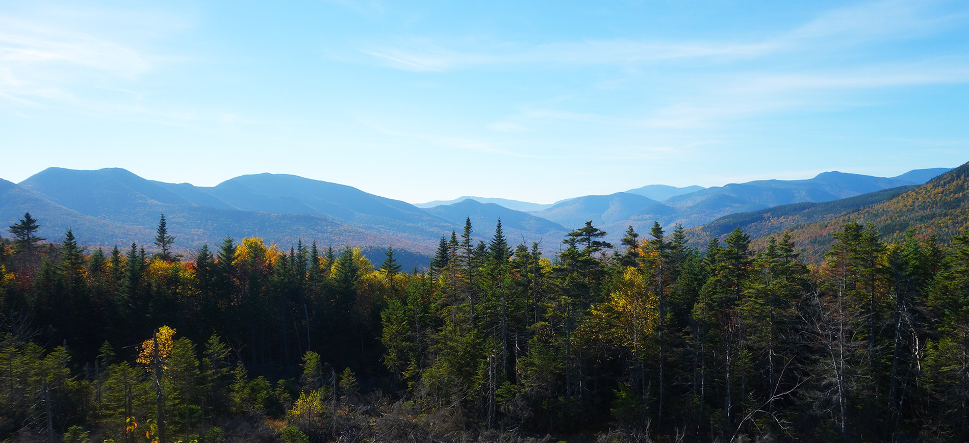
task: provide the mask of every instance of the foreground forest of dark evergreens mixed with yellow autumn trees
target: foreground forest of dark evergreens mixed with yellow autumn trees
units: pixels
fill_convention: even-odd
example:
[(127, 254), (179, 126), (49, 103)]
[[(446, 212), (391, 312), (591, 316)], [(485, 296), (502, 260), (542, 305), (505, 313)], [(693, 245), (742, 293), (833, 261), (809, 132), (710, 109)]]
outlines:
[(547, 257), (468, 221), (414, 272), (256, 237), (179, 257), (164, 216), (156, 254), (39, 223), (0, 241), (0, 439), (969, 440), (969, 232), (848, 223), (808, 267), (787, 235), (702, 254), (590, 222)]

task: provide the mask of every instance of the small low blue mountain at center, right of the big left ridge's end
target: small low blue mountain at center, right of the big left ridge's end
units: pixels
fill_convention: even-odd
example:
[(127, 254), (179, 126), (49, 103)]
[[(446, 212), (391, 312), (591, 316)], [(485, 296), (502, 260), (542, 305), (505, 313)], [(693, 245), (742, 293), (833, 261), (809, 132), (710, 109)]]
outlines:
[[(462, 229), (465, 219), (470, 217), (475, 231), (474, 237), (485, 241), (494, 234), (499, 218), (501, 218), (501, 228), (505, 237), (508, 237), (512, 243), (521, 242), (522, 238), (526, 244), (541, 239), (557, 242), (571, 231), (558, 223), (527, 212), (493, 203), (484, 204), (472, 199), (465, 199), (453, 205), (428, 207), (425, 210), (459, 224)], [(458, 230), (458, 234), (460, 233), (461, 231)]]

